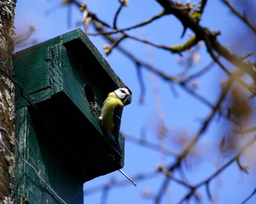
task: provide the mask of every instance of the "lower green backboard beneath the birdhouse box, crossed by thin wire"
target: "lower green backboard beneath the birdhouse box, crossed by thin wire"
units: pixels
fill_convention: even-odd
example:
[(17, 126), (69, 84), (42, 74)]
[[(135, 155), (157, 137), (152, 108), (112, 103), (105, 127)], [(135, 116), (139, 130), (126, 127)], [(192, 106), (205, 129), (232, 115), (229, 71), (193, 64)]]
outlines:
[[(37, 111), (27, 107), (17, 110), (16, 120), (16, 138), (23, 158), (34, 166), (62, 200), (66, 203), (83, 204), (80, 164), (61, 145), (51, 127), (46, 126)], [(14, 183), (17, 203), (61, 203), (18, 154)]]

